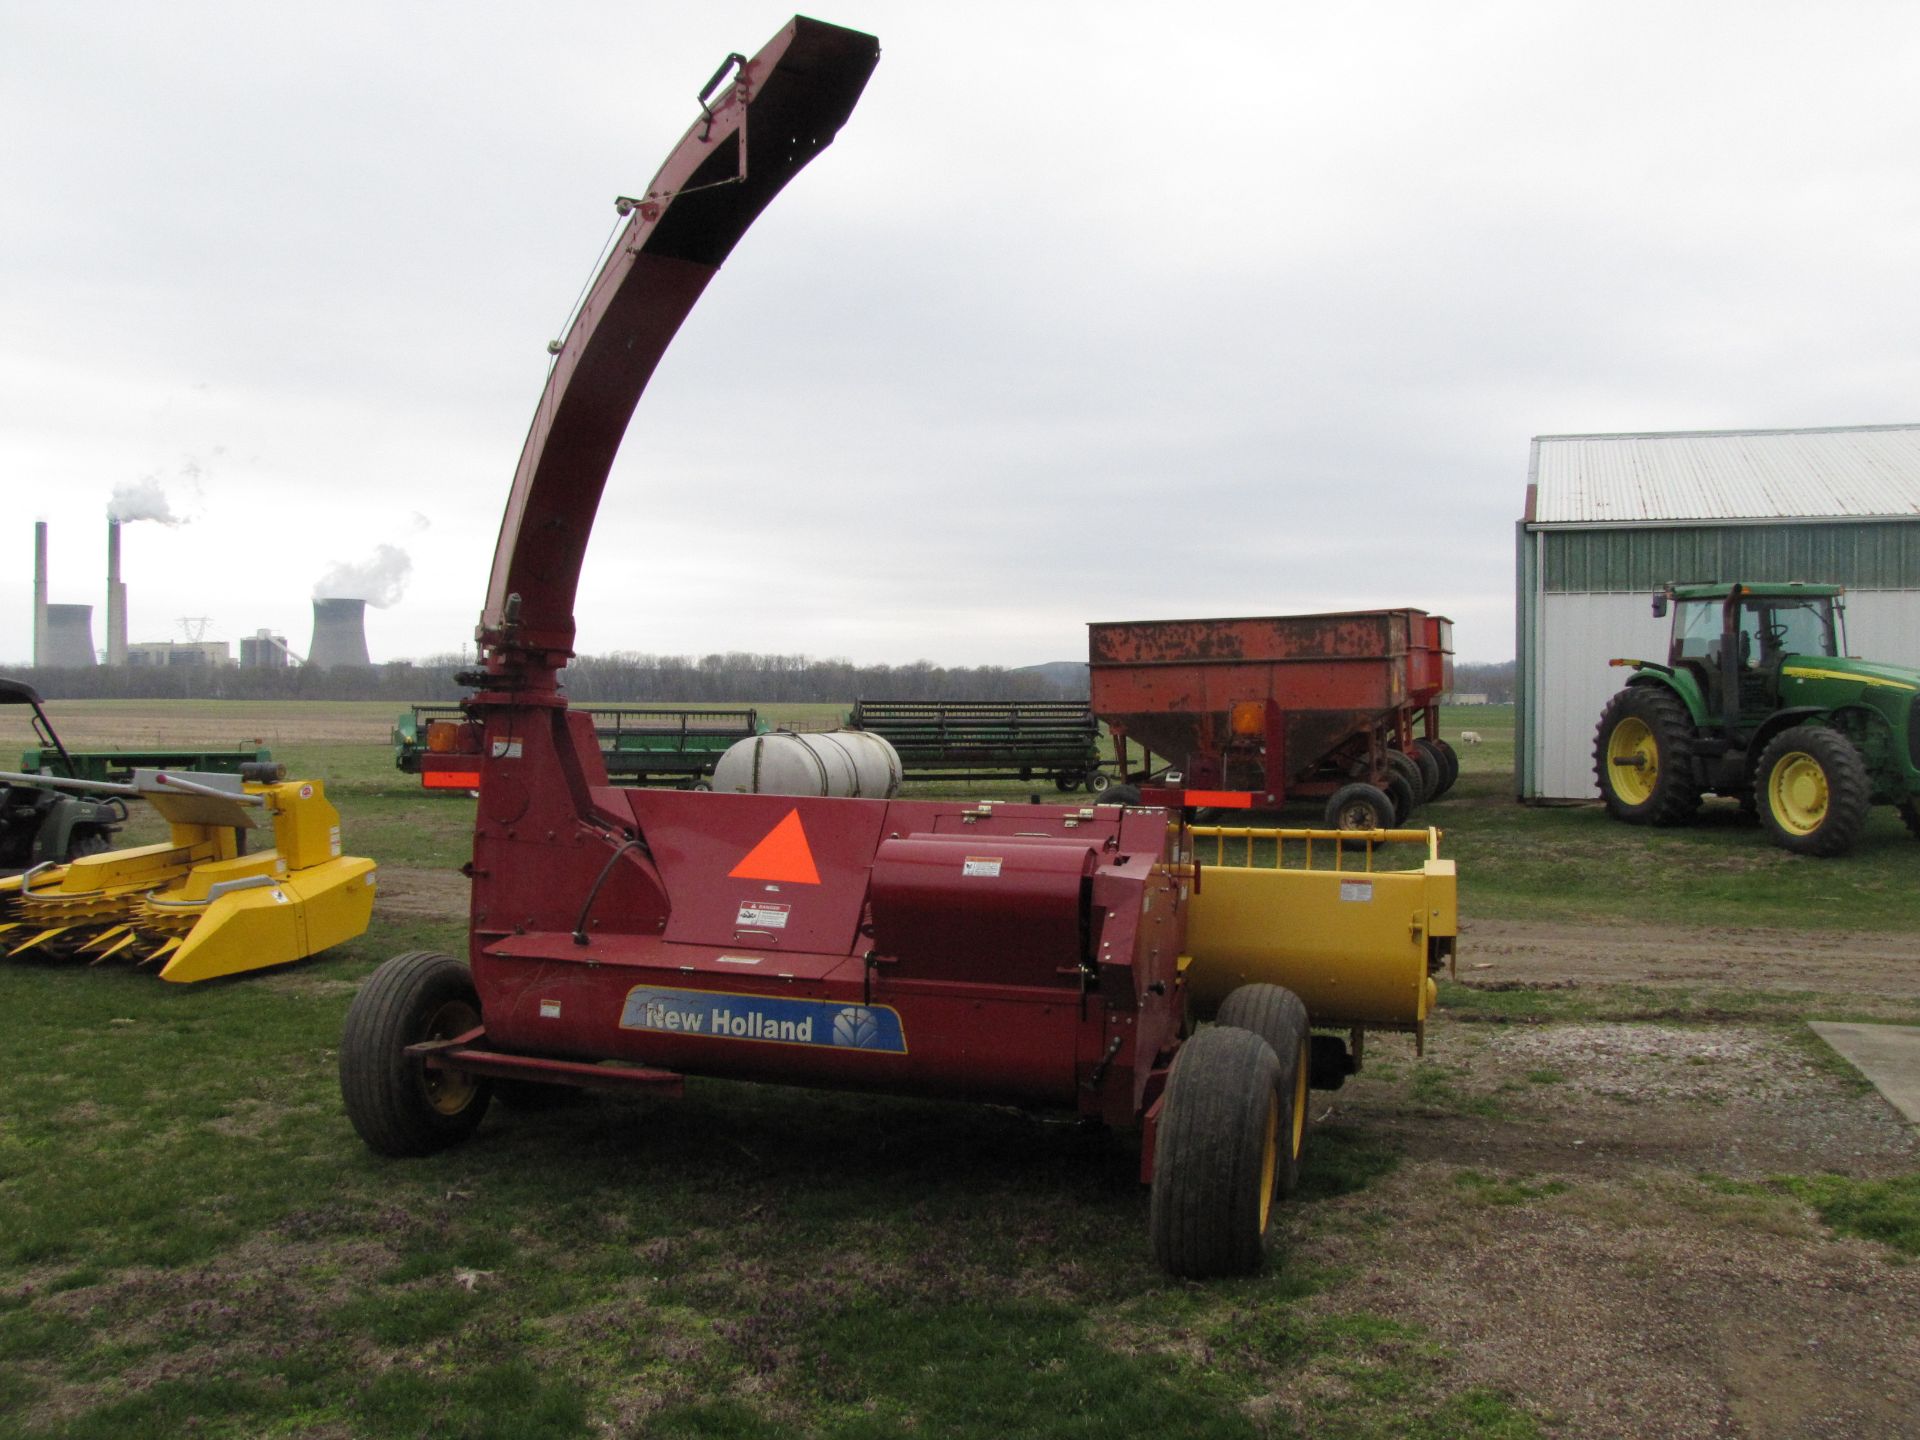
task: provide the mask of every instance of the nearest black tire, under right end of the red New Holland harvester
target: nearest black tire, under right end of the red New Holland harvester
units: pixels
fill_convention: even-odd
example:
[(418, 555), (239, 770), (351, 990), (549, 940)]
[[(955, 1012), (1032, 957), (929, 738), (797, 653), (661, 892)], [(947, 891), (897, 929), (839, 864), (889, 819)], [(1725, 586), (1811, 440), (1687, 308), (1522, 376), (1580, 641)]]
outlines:
[(1252, 1031), (1208, 1025), (1167, 1075), (1148, 1233), (1173, 1275), (1250, 1275), (1267, 1258), (1281, 1062)]

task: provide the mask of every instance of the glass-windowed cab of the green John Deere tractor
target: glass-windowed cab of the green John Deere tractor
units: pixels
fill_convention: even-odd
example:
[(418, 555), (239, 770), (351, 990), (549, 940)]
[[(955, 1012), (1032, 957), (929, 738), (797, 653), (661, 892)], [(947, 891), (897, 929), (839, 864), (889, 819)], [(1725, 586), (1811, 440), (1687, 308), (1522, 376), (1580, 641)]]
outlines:
[(1705, 708), (1728, 732), (1747, 733), (1780, 708), (1780, 668), (1789, 655), (1845, 655), (1841, 588), (1668, 586), (1653, 612), (1672, 603), (1667, 664), (1699, 684)]

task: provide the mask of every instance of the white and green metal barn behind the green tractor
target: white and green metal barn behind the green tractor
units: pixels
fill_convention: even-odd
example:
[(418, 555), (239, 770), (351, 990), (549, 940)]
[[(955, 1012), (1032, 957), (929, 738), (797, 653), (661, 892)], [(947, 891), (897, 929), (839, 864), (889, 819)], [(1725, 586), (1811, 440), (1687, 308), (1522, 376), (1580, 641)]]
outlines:
[(1847, 588), (1847, 653), (1920, 666), (1920, 424), (1538, 436), (1517, 526), (1515, 785), (1596, 799), (1613, 657), (1665, 659), (1676, 582)]

